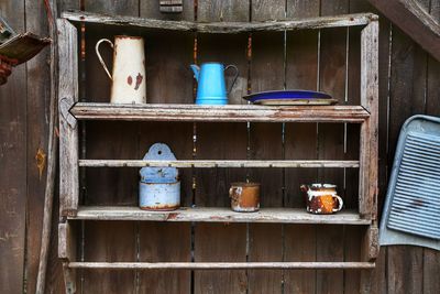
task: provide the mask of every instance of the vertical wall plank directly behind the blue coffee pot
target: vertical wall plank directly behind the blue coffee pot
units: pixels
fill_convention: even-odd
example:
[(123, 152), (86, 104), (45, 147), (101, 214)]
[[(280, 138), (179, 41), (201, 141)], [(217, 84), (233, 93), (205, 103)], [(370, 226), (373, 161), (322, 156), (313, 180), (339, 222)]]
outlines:
[[(249, 21), (250, 1), (198, 1), (197, 20)], [(234, 64), (240, 76), (229, 95), (229, 104), (243, 104), (248, 89), (248, 34), (197, 36), (197, 59)], [(230, 77), (227, 74), (227, 84)], [(197, 159), (245, 159), (245, 123), (198, 123)], [(228, 189), (232, 182), (245, 181), (245, 171), (212, 168), (196, 171), (196, 205), (230, 206)], [(197, 224), (195, 261), (246, 261), (246, 225)], [(195, 293), (245, 293), (245, 271), (196, 271)]]

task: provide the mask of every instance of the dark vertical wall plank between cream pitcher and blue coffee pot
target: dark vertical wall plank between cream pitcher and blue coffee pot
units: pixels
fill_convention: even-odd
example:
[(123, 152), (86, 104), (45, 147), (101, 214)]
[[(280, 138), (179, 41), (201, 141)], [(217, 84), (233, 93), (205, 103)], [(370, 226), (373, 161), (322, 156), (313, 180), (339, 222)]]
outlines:
[[(194, 21), (194, 1), (184, 1), (184, 11), (166, 14), (157, 1), (141, 1), (141, 17)], [(194, 34), (158, 32), (146, 43), (147, 102), (193, 104)], [(170, 86), (172, 85), (172, 86)], [(193, 157), (193, 123), (141, 123), (140, 157), (156, 142), (169, 145), (177, 159)], [(193, 170), (180, 168), (180, 204), (193, 205)], [(139, 224), (140, 261), (190, 261), (191, 224)], [(141, 293), (189, 293), (190, 271), (143, 271)], [(172, 282), (169, 282), (172, 280)]]

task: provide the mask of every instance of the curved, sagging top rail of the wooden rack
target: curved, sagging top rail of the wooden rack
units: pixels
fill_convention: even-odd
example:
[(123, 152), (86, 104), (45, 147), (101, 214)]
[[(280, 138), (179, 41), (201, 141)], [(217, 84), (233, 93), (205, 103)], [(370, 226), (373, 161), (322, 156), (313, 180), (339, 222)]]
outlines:
[(189, 21), (164, 21), (121, 15), (106, 15), (75, 10), (65, 11), (62, 13), (62, 17), (73, 22), (217, 34), (359, 26), (367, 25), (370, 22), (376, 21), (378, 19), (378, 17), (373, 13), (355, 13), (344, 15), (295, 19), (288, 21), (202, 23)]

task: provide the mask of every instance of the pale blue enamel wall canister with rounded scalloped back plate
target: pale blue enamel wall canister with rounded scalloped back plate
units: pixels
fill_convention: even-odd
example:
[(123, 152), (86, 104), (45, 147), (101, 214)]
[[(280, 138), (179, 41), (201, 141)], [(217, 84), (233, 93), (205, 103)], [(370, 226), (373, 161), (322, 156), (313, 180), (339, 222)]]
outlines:
[[(153, 144), (144, 161), (175, 161), (170, 149)], [(180, 206), (180, 181), (176, 167), (143, 167), (139, 183), (139, 206), (146, 210), (174, 210)]]

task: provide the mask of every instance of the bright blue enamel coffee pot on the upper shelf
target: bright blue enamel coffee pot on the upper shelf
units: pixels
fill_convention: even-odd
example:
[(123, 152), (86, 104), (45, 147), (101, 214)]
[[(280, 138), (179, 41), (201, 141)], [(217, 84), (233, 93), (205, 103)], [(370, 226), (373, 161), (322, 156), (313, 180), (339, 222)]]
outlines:
[[(190, 65), (194, 77), (198, 83), (196, 105), (227, 105), (228, 94), (239, 76), (235, 65), (224, 67), (221, 63), (204, 63), (201, 66)], [(227, 91), (224, 72), (229, 68), (235, 69), (230, 89)]]

